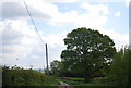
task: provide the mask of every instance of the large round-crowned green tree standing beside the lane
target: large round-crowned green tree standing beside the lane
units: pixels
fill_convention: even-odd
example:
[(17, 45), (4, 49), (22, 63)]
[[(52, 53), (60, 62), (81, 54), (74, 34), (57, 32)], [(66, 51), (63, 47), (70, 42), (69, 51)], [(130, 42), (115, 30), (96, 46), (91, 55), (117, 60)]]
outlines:
[(69, 33), (64, 45), (67, 49), (61, 53), (64, 68), (83, 74), (85, 81), (108, 66), (116, 52), (115, 43), (107, 35), (85, 27)]

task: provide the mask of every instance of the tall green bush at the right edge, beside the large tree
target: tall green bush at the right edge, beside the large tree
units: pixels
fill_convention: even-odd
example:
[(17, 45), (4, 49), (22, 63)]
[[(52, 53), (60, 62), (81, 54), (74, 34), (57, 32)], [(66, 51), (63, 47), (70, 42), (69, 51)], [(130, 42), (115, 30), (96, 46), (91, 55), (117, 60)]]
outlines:
[(121, 49), (115, 54), (110, 66), (109, 79), (114, 85), (127, 86), (129, 84), (129, 62), (131, 49)]

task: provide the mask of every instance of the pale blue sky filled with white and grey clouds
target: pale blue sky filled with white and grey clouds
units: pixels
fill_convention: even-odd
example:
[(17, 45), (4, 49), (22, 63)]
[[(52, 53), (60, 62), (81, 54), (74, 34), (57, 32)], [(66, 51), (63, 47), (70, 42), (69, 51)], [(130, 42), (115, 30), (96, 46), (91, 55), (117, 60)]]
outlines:
[[(44, 43), (49, 63), (61, 60), (67, 34), (79, 27), (108, 35), (119, 50), (129, 45), (130, 0), (25, 0)], [(23, 0), (0, 2), (0, 64), (46, 67), (45, 45), (36, 34)]]

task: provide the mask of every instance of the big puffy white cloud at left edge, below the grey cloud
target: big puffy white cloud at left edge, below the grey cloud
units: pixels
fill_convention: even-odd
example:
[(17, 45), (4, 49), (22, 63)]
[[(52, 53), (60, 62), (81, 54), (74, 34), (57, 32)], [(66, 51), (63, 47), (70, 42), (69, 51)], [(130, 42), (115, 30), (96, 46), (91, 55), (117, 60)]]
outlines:
[(0, 54), (3, 54), (1, 59), (5, 61), (4, 63), (16, 58), (26, 58), (33, 48), (38, 46), (37, 35), (32, 26), (27, 26), (26, 21), (7, 20), (0, 22), (0, 35), (2, 35)]

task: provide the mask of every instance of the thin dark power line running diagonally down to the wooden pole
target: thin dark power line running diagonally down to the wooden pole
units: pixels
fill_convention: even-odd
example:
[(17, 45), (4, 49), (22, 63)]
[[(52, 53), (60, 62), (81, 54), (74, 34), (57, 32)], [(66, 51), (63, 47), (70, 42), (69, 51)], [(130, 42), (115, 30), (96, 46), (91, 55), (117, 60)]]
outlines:
[(37, 29), (37, 27), (36, 27), (36, 25), (35, 25), (35, 22), (34, 22), (34, 20), (33, 20), (33, 16), (31, 15), (31, 12), (29, 12), (29, 10), (28, 10), (28, 8), (27, 8), (27, 4), (26, 4), (25, 0), (23, 0), (23, 2), (24, 2), (24, 4), (25, 4), (25, 8), (26, 8), (26, 10), (27, 10), (27, 13), (28, 13), (28, 15), (29, 15), (29, 17), (31, 17), (31, 21), (32, 21), (32, 23), (33, 23), (33, 25), (34, 25), (34, 27), (35, 27), (35, 30), (36, 30), (36, 33), (37, 33), (37, 35), (38, 35), (41, 43), (45, 45), (41, 36), (40, 36), (39, 33), (38, 33), (38, 29)]

